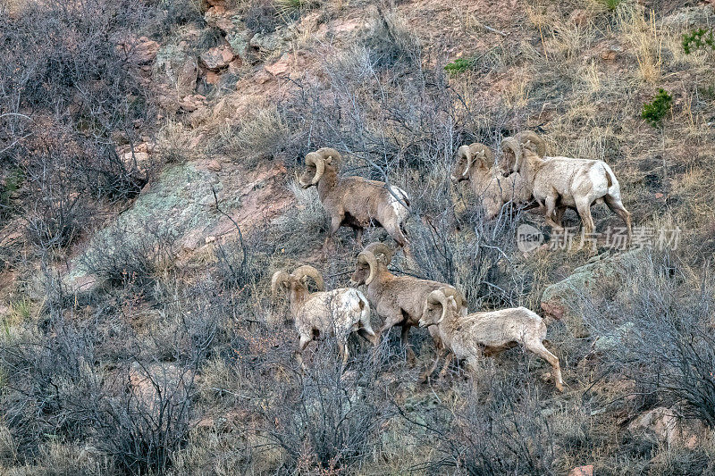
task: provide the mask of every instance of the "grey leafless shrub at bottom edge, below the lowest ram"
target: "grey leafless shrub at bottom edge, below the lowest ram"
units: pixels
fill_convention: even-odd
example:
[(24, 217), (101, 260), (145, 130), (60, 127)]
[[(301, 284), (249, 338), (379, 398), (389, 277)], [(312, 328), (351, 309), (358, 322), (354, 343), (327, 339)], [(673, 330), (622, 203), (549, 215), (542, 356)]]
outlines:
[(535, 388), (487, 374), (487, 396), (467, 389), (455, 407), (420, 409), (420, 418), (415, 409), (409, 412), (398, 405), (420, 441), (436, 452), (419, 469), (472, 475), (556, 474), (556, 434)]

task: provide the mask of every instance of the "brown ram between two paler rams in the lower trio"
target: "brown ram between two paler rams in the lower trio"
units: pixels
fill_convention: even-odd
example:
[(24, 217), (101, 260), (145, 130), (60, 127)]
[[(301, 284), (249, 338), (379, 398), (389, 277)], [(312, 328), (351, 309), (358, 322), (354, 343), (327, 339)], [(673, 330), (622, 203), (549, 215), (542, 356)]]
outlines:
[[(445, 304), (449, 296), (458, 303), (456, 313), (467, 314), (464, 297), (459, 291), (447, 284), (420, 280), (412, 276), (395, 276), (387, 269), (391, 262), (392, 250), (383, 243), (371, 243), (357, 255), (357, 268), (350, 278), (354, 286), (365, 284), (366, 295), (374, 310), (384, 319), (383, 325), (377, 331), (378, 338), (385, 330), (393, 326), (402, 327), (402, 345), (406, 348), (408, 359), (415, 360), (415, 353), (408, 346), (410, 327), (419, 324), (420, 317), (427, 305), (427, 296), (442, 300)], [(444, 306), (445, 312), (452, 310)], [(441, 347), (437, 332), (431, 331), (434, 345), (438, 351)], [(438, 357), (439, 357), (438, 352)]]

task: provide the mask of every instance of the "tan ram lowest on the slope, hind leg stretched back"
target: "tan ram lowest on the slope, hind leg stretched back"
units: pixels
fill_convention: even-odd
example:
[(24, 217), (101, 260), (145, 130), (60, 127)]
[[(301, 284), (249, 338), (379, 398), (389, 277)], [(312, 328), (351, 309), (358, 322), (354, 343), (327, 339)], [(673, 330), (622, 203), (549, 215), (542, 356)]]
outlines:
[[(438, 293), (439, 291), (435, 291)], [(543, 347), (546, 338), (546, 324), (538, 314), (526, 307), (502, 309), (485, 313), (472, 313), (458, 316), (457, 302), (448, 298), (447, 305), (451, 312), (445, 313), (442, 296), (427, 296), (427, 306), (420, 327), (437, 328), (442, 346), (451, 353), (447, 356), (442, 372), (445, 372), (453, 356), (467, 360), (467, 365), (474, 366), (482, 355), (496, 355), (511, 347), (521, 346), (529, 352), (539, 355), (553, 369), (553, 379), (559, 391), (564, 389), (561, 378), (559, 358)], [(436, 360), (435, 360), (436, 362)], [(434, 367), (429, 371), (431, 374)]]

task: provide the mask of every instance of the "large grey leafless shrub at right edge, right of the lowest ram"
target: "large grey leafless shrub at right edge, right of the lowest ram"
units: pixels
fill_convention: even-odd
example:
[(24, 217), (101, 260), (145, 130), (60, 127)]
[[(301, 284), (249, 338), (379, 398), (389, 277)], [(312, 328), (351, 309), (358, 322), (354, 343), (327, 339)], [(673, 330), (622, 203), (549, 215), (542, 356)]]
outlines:
[(647, 397), (635, 411), (681, 405), (686, 417), (715, 426), (710, 271), (690, 270), (675, 252), (644, 253), (639, 263), (614, 300), (586, 308), (587, 322), (614, 349), (602, 358)]

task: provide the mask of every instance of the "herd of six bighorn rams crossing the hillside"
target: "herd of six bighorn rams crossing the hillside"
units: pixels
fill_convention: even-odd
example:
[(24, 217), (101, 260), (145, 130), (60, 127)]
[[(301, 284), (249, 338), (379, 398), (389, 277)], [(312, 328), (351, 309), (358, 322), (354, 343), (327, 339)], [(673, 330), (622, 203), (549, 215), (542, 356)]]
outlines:
[[(628, 242), (631, 236), (630, 213), (623, 206), (620, 188), (607, 163), (597, 160), (547, 156), (546, 143), (532, 131), (504, 138), (503, 157), (497, 166), (488, 146), (460, 146), (450, 174), (454, 183), (469, 180), (475, 194), (481, 197), (485, 220), (501, 213), (511, 202), (538, 206), (545, 221), (553, 228), (561, 227), (567, 208), (581, 217), (584, 234), (593, 233), (591, 205), (605, 203), (626, 222)], [(401, 188), (362, 177), (340, 177), (341, 154), (324, 147), (306, 155), (306, 169), (299, 176), (303, 188), (315, 186), (318, 197), (330, 218), (325, 238), (327, 249), (342, 227), (355, 230), (362, 246), (362, 232), (370, 226), (380, 226), (390, 234), (406, 255), (409, 243), (405, 221), (409, 214), (409, 197)], [(448, 283), (421, 280), (412, 276), (396, 276), (388, 270), (393, 250), (383, 243), (371, 243), (358, 255), (350, 278), (352, 288), (324, 291), (323, 278), (314, 267), (300, 266), (291, 273), (273, 274), (273, 296), (284, 290), (288, 294), (290, 314), (299, 334), (297, 358), (304, 365), (302, 352), (317, 337), (336, 338), (343, 367), (348, 363), (348, 337), (357, 331), (376, 346), (383, 332), (401, 327), (402, 345), (408, 360), (415, 354), (408, 346), (412, 327), (427, 328), (433, 339), (435, 358), (422, 374), (426, 380), (445, 356), (442, 377), (451, 360), (457, 357), (474, 366), (483, 355), (521, 346), (543, 358), (552, 368), (556, 388), (563, 390), (559, 358), (543, 341), (546, 324), (536, 313), (525, 307), (468, 313), (464, 295)], [(317, 292), (309, 292), (307, 279), (315, 281)], [(357, 287), (365, 286), (365, 294)], [(370, 324), (371, 309), (383, 319), (375, 333)]]

